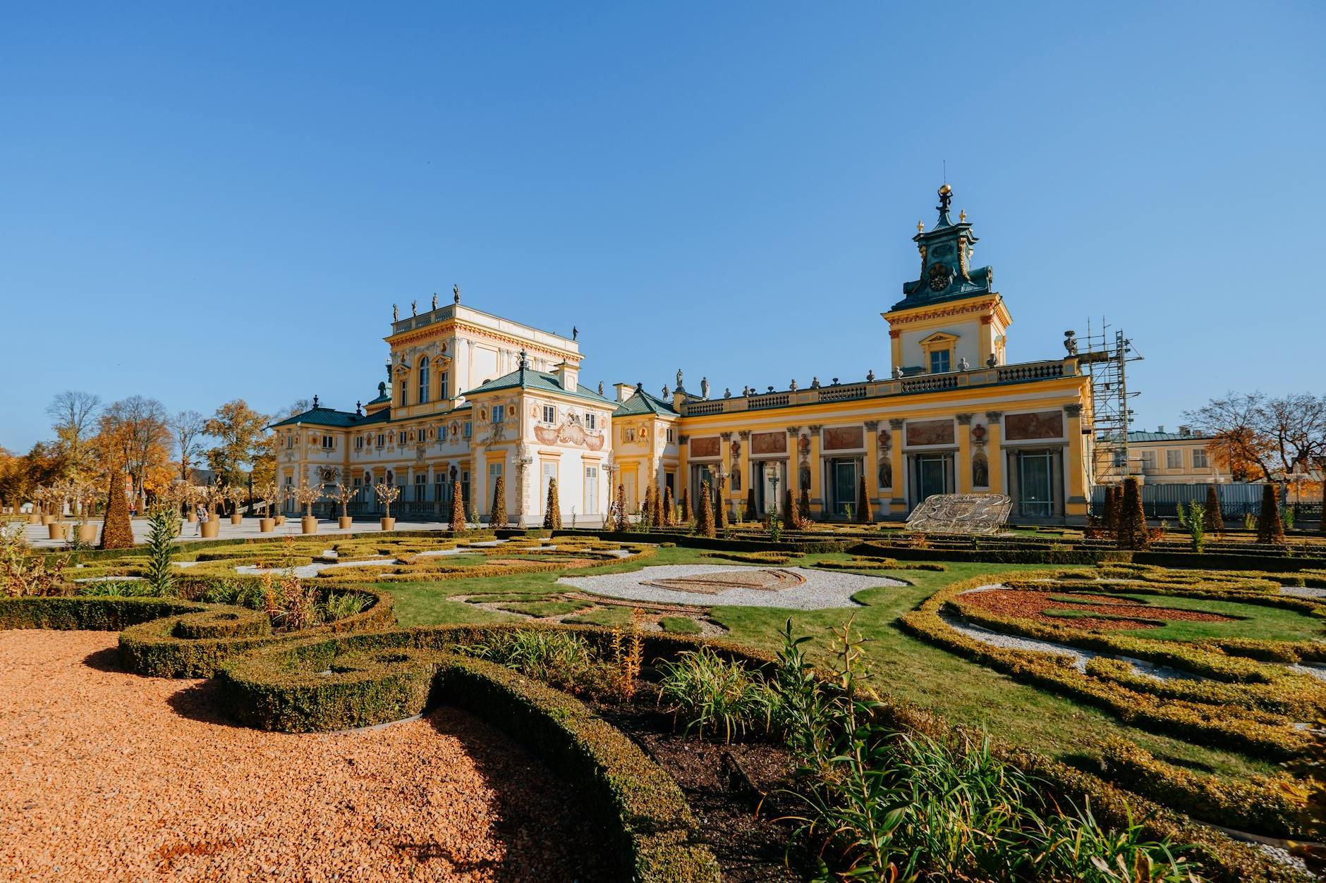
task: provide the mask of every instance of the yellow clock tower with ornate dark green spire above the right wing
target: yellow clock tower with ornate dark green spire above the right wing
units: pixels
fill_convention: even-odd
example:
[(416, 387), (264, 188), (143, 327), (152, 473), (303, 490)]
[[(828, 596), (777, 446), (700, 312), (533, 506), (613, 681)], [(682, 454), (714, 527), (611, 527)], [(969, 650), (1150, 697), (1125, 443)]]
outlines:
[(883, 314), (895, 375), (948, 374), (1004, 363), (1005, 330), (1013, 322), (993, 290), (993, 270), (971, 266), (977, 237), (961, 212), (949, 217), (953, 190), (939, 188), (939, 220), (916, 223), (920, 278), (903, 282), (903, 300)]

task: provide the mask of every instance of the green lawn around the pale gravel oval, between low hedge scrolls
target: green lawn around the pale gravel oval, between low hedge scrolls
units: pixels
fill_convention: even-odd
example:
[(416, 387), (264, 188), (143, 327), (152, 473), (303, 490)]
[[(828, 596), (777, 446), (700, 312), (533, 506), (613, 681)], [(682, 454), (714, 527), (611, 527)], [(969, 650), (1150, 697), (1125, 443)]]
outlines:
[[(814, 554), (796, 558), (790, 565), (805, 566), (821, 559), (849, 561), (850, 557)], [(705, 558), (699, 550), (671, 548), (659, 549), (656, 556), (640, 562), (626, 562), (593, 570), (410, 585), (387, 582), (379, 583), (379, 587), (395, 595), (396, 615), (404, 626), (452, 622), (520, 622), (520, 617), (491, 613), (475, 605), (447, 601), (447, 597), (504, 593), (512, 598), (529, 595), (532, 602), (538, 602), (558, 590), (558, 575), (626, 571), (666, 563), (724, 565), (731, 562)], [(798, 634), (810, 634), (817, 638), (815, 646), (821, 650), (827, 647), (831, 636), (830, 630), (851, 618), (853, 626), (869, 639), (866, 654), (871, 667), (871, 679), (880, 689), (916, 705), (931, 708), (951, 721), (984, 727), (997, 738), (1059, 758), (1097, 757), (1095, 745), (1101, 737), (1122, 735), (1159, 757), (1227, 777), (1241, 778), (1252, 773), (1274, 770), (1273, 765), (1242, 754), (1191, 745), (1177, 738), (1124, 727), (1103, 712), (1020, 684), (989, 668), (916, 640), (896, 626), (898, 617), (912, 610), (924, 598), (945, 585), (975, 575), (997, 577), (1008, 571), (1036, 569), (1054, 570), (1059, 567), (959, 562), (949, 563), (948, 570), (943, 573), (927, 570), (867, 571), (863, 575), (888, 575), (911, 585), (870, 589), (859, 593), (857, 601), (865, 606), (854, 610), (789, 611), (760, 607), (715, 607), (711, 618), (731, 630), (732, 639), (765, 650), (778, 647), (778, 634), (789, 617)], [(1270, 609), (1257, 610), (1258, 613), (1280, 613)], [(603, 624), (623, 622), (629, 614), (615, 611), (597, 611), (581, 617), (583, 620)], [(1151, 635), (1158, 632), (1158, 630), (1146, 631)]]

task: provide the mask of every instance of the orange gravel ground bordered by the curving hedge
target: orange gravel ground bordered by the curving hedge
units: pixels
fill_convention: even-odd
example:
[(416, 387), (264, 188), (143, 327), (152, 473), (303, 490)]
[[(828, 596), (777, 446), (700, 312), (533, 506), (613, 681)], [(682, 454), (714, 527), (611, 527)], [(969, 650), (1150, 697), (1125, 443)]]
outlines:
[(602, 878), (558, 781), (476, 717), (247, 729), (115, 642), (0, 631), (0, 879)]

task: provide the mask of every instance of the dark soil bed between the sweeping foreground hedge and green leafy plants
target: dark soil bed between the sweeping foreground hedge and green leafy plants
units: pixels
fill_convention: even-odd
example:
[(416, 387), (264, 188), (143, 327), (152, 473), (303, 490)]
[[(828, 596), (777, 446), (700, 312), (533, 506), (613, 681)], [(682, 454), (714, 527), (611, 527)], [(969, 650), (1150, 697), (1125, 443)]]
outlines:
[[(648, 704), (644, 704), (648, 703)], [(630, 736), (682, 786), (700, 822), (705, 845), (723, 868), (725, 883), (805, 880), (814, 856), (788, 849), (796, 822), (784, 817), (802, 807), (782, 789), (792, 788), (793, 762), (786, 749), (764, 741), (704, 740), (674, 732), (672, 719), (652, 700), (635, 705), (601, 705), (595, 711)], [(782, 821), (780, 821), (782, 819)]]

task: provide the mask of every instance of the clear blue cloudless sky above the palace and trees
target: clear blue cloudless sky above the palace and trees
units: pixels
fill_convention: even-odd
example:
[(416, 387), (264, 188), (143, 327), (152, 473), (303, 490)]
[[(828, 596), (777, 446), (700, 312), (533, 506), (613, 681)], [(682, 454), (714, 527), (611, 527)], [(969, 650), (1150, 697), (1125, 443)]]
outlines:
[(353, 408), (392, 302), (581, 329), (582, 381), (888, 370), (943, 163), (1136, 426), (1323, 387), (1326, 5), (5, 4), (0, 445), (65, 388)]

